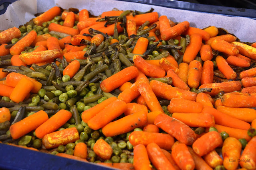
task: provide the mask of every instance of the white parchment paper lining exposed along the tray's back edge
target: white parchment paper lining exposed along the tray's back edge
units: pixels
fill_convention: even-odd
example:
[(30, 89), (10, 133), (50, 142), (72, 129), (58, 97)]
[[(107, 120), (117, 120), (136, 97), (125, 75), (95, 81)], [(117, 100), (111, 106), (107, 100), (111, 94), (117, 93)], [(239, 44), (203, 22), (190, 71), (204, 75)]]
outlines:
[(23, 25), (34, 18), (34, 14), (44, 12), (53, 6), (60, 6), (64, 9), (71, 7), (79, 10), (87, 9), (95, 16), (113, 8), (143, 12), (154, 8), (159, 16), (166, 15), (174, 22), (188, 21), (190, 26), (197, 28), (216, 26), (228, 30), (242, 42), (256, 42), (256, 34), (254, 33), (256, 20), (250, 18), (229, 17), (117, 0), (19, 0), (9, 5), (5, 14), (0, 16), (0, 30)]

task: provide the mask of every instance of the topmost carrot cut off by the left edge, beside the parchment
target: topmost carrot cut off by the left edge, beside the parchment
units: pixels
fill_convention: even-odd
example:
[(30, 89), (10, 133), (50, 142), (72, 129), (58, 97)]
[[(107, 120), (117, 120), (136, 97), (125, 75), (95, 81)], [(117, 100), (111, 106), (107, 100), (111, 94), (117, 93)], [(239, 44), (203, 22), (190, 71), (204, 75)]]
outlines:
[(13, 38), (20, 38), (21, 32), (18, 28), (13, 27), (0, 32), (0, 44), (9, 43)]

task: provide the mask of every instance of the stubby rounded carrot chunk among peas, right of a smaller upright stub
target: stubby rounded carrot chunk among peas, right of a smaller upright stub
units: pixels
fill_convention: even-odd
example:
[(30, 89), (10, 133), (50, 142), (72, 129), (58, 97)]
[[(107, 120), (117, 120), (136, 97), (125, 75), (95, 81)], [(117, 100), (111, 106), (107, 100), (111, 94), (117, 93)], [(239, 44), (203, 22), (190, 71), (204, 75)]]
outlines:
[(103, 139), (99, 139), (96, 141), (93, 146), (93, 151), (95, 152), (95, 154), (103, 159), (110, 159), (113, 153), (113, 149), (111, 148), (111, 146)]

